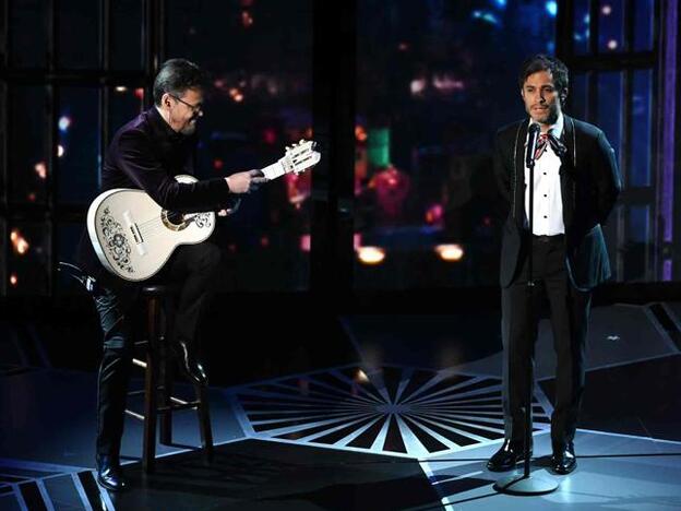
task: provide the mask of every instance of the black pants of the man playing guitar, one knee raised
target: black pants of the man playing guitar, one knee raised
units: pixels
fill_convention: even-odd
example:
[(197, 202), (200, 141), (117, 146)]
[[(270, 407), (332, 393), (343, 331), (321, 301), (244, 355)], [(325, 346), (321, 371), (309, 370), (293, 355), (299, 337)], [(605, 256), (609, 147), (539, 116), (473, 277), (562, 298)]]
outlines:
[[(176, 249), (153, 282), (181, 283), (175, 310), (172, 340), (195, 343), (202, 313), (217, 282), (219, 249), (210, 243)], [(107, 286), (95, 297), (104, 332), (104, 354), (97, 382), (97, 454), (118, 459), (133, 353), (138, 286)]]

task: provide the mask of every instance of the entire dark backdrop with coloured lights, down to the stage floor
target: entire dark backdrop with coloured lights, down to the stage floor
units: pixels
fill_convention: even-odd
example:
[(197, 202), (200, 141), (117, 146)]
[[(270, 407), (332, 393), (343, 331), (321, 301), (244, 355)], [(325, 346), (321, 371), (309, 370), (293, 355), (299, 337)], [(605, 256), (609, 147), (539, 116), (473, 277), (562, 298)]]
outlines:
[(0, 3), (0, 301), (31, 364), (96, 363), (94, 308), (57, 263), (73, 260), (108, 141), (171, 57), (212, 76), (200, 176), (265, 166), (301, 138), (324, 155), (216, 229), (225, 271), (206, 329), (225, 382), (351, 358), (343, 314), (497, 308), (491, 144), (524, 116), (516, 75), (535, 52), (568, 63), (565, 110), (606, 131), (624, 180), (596, 304), (679, 296), (681, 52), (665, 2)]

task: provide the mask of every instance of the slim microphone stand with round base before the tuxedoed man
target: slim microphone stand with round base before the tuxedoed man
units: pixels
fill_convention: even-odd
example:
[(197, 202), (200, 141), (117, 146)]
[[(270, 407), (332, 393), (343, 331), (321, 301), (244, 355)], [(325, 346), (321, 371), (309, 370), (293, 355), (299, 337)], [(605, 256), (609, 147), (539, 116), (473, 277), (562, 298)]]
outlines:
[[(527, 316), (528, 322), (527, 324), (531, 325), (535, 321), (534, 314), (534, 296), (535, 296), (535, 281), (533, 278), (533, 233), (534, 233), (534, 219), (535, 219), (535, 152), (537, 148), (537, 139), (539, 136), (539, 124), (531, 123), (529, 124), (528, 133), (529, 138), (527, 139), (527, 153), (525, 154), (525, 166), (529, 169), (529, 185), (527, 188), (529, 189), (529, 207), (528, 207), (528, 221), (529, 221), (529, 230), (526, 233), (527, 237)], [(515, 190), (513, 190), (515, 193)], [(529, 329), (527, 333), (530, 336), (530, 342), (534, 341), (531, 338), (533, 330)], [(500, 494), (510, 494), (510, 495), (542, 495), (550, 494), (558, 489), (558, 482), (554, 478), (545, 479), (539, 476), (533, 476), (529, 473), (529, 445), (531, 444), (531, 433), (533, 433), (533, 420), (531, 420), (531, 405), (533, 405), (533, 389), (534, 389), (534, 378), (533, 378), (533, 365), (527, 365), (527, 395), (525, 399), (525, 441), (524, 441), (524, 456), (525, 462), (523, 464), (524, 471), (523, 475), (518, 476), (516, 474), (503, 477), (494, 483), (493, 488)]]

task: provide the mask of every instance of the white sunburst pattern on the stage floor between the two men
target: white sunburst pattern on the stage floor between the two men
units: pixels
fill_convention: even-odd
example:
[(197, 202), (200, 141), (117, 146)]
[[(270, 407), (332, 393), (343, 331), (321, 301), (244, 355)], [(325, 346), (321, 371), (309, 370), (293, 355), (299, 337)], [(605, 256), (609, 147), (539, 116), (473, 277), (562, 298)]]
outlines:
[[(504, 435), (501, 380), (489, 376), (353, 365), (229, 394), (241, 427), (260, 440), (428, 459)], [(551, 409), (542, 397), (535, 395), (535, 431), (549, 428)]]

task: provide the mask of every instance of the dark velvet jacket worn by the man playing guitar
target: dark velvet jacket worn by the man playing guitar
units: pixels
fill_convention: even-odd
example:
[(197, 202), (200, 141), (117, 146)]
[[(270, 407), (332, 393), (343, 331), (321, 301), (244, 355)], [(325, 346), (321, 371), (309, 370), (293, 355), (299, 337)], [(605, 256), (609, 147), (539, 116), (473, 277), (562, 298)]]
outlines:
[[(155, 107), (143, 111), (120, 128), (101, 167), (101, 189), (144, 190), (164, 210), (177, 212), (217, 211), (229, 205), (234, 195), (224, 178), (179, 183), (174, 176), (194, 174), (196, 138), (175, 132)], [(87, 273), (103, 277), (108, 272), (83, 231), (76, 259)]]

